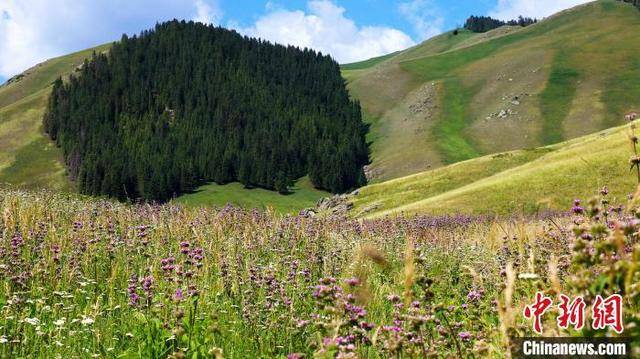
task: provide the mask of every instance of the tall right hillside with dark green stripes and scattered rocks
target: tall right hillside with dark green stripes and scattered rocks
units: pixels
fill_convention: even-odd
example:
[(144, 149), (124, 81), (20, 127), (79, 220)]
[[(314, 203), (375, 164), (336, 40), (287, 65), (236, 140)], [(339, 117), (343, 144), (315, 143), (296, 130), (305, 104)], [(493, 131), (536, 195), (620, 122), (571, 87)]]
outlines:
[(640, 14), (601, 0), (527, 27), (440, 35), (343, 68), (372, 125), (374, 182), (550, 145), (640, 108)]

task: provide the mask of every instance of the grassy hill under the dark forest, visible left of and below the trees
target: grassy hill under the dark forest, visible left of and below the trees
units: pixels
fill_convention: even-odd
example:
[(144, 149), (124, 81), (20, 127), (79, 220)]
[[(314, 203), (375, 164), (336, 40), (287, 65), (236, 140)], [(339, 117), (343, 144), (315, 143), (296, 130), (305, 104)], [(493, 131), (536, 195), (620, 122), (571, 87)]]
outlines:
[[(0, 183), (22, 188), (47, 188), (74, 191), (66, 177), (60, 150), (42, 131), (42, 115), (58, 76), (68, 76), (84, 59), (108, 50), (99, 46), (43, 62), (16, 80), (0, 86)], [(271, 207), (292, 213), (312, 207), (328, 194), (313, 188), (308, 180), (299, 181), (287, 196), (261, 189), (248, 190), (232, 183), (207, 185), (177, 201), (187, 206), (224, 206), (227, 203), (247, 208)]]

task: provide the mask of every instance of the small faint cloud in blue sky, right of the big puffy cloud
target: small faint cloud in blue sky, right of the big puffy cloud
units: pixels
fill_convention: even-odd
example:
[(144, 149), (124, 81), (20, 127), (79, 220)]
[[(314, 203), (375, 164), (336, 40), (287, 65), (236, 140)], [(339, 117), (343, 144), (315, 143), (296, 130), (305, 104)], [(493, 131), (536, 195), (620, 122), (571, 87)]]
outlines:
[(413, 26), (420, 40), (442, 33), (444, 18), (431, 0), (413, 0), (398, 6), (400, 14)]

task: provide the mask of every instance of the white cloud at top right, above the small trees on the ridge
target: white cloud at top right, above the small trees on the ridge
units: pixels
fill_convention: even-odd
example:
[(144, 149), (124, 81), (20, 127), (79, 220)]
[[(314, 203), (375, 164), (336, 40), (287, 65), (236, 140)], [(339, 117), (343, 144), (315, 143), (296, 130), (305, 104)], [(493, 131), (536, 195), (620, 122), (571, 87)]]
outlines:
[(541, 19), (590, 1), (592, 0), (498, 0), (498, 5), (489, 15), (502, 20), (515, 19), (520, 15)]

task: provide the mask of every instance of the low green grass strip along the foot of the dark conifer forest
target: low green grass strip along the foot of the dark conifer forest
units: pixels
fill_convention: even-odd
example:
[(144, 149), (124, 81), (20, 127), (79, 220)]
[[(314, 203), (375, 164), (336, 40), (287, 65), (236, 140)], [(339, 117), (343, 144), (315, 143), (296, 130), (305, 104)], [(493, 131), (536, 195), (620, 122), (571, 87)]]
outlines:
[(304, 208), (314, 207), (328, 192), (317, 190), (308, 177), (298, 180), (292, 193), (281, 195), (262, 188), (247, 189), (240, 183), (208, 184), (194, 193), (178, 197), (175, 202), (190, 207), (224, 207), (227, 204), (247, 209), (272, 209), (277, 213), (295, 214)]

